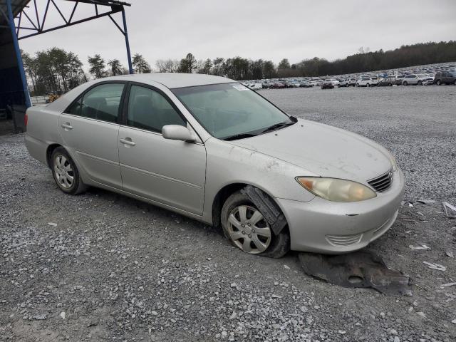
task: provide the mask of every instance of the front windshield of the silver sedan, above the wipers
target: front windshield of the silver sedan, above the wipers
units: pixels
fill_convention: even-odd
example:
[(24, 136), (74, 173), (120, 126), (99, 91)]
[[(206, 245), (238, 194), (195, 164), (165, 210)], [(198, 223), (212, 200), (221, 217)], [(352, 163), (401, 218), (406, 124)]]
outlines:
[(248, 138), (296, 122), (239, 83), (176, 88), (172, 93), (207, 132), (219, 139)]

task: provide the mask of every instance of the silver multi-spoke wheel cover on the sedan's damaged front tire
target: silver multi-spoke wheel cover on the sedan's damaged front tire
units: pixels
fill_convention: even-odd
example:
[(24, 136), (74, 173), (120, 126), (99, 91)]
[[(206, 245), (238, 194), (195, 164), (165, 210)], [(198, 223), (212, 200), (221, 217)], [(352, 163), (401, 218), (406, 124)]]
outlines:
[(240, 205), (229, 214), (228, 234), (244, 252), (258, 254), (271, 244), (271, 228), (255, 207)]

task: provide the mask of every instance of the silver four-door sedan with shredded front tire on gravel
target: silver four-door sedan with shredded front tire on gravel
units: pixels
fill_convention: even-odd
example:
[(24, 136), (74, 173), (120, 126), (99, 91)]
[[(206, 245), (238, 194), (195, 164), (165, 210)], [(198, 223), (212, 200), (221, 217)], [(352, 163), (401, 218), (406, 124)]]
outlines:
[(287, 115), (236, 81), (116, 76), (28, 108), (26, 146), (88, 186), (222, 227), (244, 252), (361, 249), (393, 225), (404, 178), (375, 142)]

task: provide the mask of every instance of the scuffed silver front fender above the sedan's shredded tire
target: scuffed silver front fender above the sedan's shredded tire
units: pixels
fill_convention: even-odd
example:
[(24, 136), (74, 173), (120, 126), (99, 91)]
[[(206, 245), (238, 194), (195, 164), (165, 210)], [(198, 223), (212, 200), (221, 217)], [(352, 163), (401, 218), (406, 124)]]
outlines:
[(212, 222), (215, 196), (223, 187), (234, 183), (253, 185), (271, 197), (300, 202), (315, 198), (295, 180), (300, 175), (314, 175), (308, 170), (216, 138), (209, 138), (205, 145), (207, 171), (204, 218), (208, 222)]

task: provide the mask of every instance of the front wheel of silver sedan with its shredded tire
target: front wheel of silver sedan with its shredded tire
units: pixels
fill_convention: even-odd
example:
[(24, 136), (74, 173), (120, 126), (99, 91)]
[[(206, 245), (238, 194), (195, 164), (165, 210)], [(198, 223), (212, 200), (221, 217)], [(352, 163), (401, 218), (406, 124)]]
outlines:
[(221, 219), (225, 236), (243, 252), (280, 258), (290, 249), (288, 229), (274, 234), (257, 206), (240, 191), (228, 197)]

